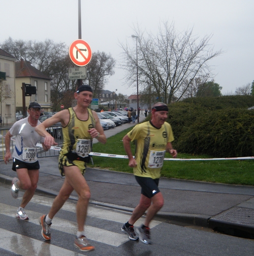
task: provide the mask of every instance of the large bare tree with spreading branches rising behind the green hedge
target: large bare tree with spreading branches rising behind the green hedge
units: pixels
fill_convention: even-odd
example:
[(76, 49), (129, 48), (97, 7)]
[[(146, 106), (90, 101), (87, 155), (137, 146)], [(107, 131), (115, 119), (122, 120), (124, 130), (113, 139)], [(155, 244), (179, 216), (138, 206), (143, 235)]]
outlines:
[[(195, 77), (211, 74), (208, 61), (221, 51), (213, 51), (209, 45), (211, 36), (202, 39), (193, 36), (193, 31), (176, 32), (168, 22), (159, 28), (158, 35), (147, 35), (134, 29), (138, 37), (138, 78), (140, 87), (151, 84), (160, 101), (170, 103), (180, 100)], [(129, 86), (136, 81), (136, 49), (123, 45), (121, 67), (127, 71)]]

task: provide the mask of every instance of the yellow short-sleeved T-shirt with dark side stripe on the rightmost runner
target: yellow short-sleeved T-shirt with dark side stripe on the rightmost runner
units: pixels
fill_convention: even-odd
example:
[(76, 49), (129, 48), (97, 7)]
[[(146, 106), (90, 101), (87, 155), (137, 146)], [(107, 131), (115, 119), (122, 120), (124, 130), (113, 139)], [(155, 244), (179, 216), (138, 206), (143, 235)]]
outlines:
[(136, 140), (134, 175), (160, 178), (167, 143), (174, 140), (171, 125), (165, 122), (158, 129), (148, 121), (136, 125), (127, 135), (132, 141)]

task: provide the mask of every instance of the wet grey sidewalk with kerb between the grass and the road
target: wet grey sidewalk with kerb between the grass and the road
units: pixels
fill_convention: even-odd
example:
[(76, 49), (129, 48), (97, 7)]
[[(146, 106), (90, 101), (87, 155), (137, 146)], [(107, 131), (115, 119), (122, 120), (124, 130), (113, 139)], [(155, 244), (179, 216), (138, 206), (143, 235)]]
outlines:
[[(107, 131), (105, 134), (112, 136), (130, 125), (124, 124), (112, 129), (111, 135)], [(56, 195), (63, 183), (57, 157), (40, 158), (39, 162), (37, 192)], [(11, 166), (12, 162), (8, 165), (0, 162), (0, 182), (11, 185), (16, 176)], [(91, 204), (132, 212), (139, 202), (140, 187), (132, 174), (87, 168), (85, 178), (91, 190)], [(158, 217), (254, 239), (254, 186), (161, 178), (159, 187), (165, 204)], [(71, 198), (77, 200), (77, 194), (73, 192)]]

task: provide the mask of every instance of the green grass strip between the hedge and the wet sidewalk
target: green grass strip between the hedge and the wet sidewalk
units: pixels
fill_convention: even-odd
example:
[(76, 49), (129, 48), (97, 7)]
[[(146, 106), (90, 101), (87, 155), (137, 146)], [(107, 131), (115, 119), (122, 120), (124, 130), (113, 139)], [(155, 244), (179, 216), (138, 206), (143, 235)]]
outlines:
[[(109, 137), (107, 143), (93, 145), (93, 152), (126, 155), (123, 149), (122, 138), (132, 127)], [(135, 144), (132, 143), (132, 152), (135, 152)], [(171, 157), (166, 154), (166, 158)], [(211, 158), (208, 155), (190, 155), (178, 153), (177, 158)], [(133, 173), (128, 166), (128, 159), (93, 156), (93, 165), (96, 167), (117, 172)], [(253, 160), (210, 160), (210, 161), (164, 161), (162, 177), (216, 182), (226, 184), (254, 185), (254, 161)]]

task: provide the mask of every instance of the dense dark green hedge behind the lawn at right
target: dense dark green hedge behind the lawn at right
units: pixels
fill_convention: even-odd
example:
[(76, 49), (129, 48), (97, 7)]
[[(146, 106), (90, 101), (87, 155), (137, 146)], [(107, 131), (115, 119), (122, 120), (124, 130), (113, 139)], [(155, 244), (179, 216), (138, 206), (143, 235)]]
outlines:
[(254, 156), (253, 96), (187, 99), (169, 105), (173, 146), (213, 157)]

